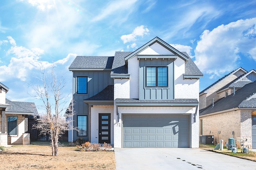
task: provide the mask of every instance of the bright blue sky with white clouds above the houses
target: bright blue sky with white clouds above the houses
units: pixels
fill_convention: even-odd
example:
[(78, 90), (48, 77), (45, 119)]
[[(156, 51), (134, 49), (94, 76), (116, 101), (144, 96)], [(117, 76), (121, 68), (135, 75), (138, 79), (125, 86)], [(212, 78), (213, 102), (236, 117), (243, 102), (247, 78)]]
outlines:
[(54, 62), (71, 95), (77, 55), (135, 51), (157, 36), (192, 57), (201, 91), (240, 66), (256, 69), (255, 9), (254, 0), (1, 0), (0, 82), (9, 100), (39, 106), (33, 63)]

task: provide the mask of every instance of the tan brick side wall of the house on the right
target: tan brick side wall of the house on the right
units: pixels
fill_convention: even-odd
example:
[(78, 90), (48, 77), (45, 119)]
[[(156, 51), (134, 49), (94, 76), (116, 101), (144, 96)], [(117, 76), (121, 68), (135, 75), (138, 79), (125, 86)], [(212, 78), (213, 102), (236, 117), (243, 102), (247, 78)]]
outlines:
[[(244, 145), (249, 145), (249, 148), (252, 148), (252, 111), (255, 110), (227, 111), (201, 116), (200, 135), (202, 120), (202, 135), (214, 135), (214, 144), (220, 143), (220, 139), (223, 139), (224, 143), (228, 142), (228, 138), (244, 139)], [(234, 135), (232, 135), (232, 131), (234, 131)], [(240, 147), (240, 142), (236, 141), (236, 143)]]

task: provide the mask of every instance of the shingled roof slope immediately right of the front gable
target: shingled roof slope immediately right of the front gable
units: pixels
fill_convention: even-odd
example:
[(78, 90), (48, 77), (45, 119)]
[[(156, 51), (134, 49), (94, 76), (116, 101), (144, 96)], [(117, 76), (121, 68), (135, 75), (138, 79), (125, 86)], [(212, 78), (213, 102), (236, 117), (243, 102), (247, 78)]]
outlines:
[(182, 52), (186, 55), (189, 59), (185, 64), (185, 76), (203, 76), (202, 72), (198, 69), (194, 61), (189, 57), (188, 53)]

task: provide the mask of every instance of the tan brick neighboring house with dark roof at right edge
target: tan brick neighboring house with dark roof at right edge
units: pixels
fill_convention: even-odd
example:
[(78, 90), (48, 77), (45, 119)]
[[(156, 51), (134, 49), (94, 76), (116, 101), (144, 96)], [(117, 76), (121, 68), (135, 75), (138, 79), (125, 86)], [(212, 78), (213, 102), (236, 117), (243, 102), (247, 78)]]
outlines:
[[(200, 109), (200, 135), (214, 135), (214, 143), (220, 139), (244, 139), (245, 145), (256, 149), (256, 71), (246, 71), (228, 83), (222, 82), (239, 70), (246, 71), (238, 68), (214, 85), (214, 103)], [(206, 91), (200, 94), (205, 95)], [(201, 96), (200, 100), (205, 99)]]

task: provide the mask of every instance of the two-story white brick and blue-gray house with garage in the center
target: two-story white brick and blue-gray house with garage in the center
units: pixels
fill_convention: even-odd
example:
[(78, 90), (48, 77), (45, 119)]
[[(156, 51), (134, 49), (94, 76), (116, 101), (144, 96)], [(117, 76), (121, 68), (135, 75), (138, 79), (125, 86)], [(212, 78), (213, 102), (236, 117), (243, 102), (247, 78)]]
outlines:
[(115, 148), (199, 147), (199, 78), (185, 52), (156, 37), (134, 52), (77, 56), (73, 126), (83, 138)]

